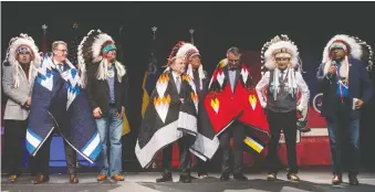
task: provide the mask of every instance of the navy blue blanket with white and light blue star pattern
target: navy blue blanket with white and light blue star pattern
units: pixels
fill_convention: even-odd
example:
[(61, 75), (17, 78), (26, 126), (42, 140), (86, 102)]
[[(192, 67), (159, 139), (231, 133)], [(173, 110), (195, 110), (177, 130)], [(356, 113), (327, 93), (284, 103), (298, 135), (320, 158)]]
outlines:
[(45, 55), (41, 62), (31, 97), (27, 149), (35, 156), (58, 128), (77, 153), (94, 162), (102, 150), (95, 119), (77, 70), (66, 64), (60, 74), (51, 56)]

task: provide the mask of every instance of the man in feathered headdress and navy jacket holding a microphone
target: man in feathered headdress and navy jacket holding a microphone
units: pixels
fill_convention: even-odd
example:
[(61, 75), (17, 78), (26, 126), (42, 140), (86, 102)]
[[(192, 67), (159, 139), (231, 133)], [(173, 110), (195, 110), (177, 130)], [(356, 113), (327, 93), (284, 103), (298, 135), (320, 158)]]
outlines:
[[(364, 53), (368, 57), (364, 57)], [(372, 49), (357, 38), (333, 36), (323, 51), (316, 77), (323, 92), (321, 115), (325, 117), (331, 145), (332, 184), (342, 180), (342, 152), (348, 142), (348, 180), (357, 185), (360, 167), (360, 111), (372, 97), (372, 82), (366, 72), (372, 66)], [(345, 140), (344, 132), (350, 140)]]

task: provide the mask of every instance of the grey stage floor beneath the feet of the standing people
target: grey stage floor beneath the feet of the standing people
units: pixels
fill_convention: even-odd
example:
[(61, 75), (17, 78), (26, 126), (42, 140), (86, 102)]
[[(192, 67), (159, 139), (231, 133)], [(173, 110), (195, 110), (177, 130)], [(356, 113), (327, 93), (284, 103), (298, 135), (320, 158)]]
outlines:
[[(191, 174), (197, 177), (196, 173)], [(287, 180), (285, 172), (279, 173), (279, 181), (269, 182), (264, 180), (264, 173), (248, 173), (249, 181), (237, 182), (232, 178), (230, 181), (220, 181), (220, 173), (210, 173), (205, 179), (194, 179), (191, 183), (179, 183), (178, 173), (174, 173), (174, 182), (155, 183), (155, 179), (160, 177), (157, 172), (126, 172), (125, 181), (114, 182), (111, 180), (102, 183), (96, 182), (95, 173), (81, 173), (79, 184), (70, 184), (66, 174), (51, 174), (51, 180), (45, 184), (31, 184), (30, 175), (20, 178), (15, 184), (8, 183), (7, 177), (1, 177), (1, 191), (4, 192), (304, 192), (304, 191), (340, 191), (340, 192), (375, 192), (375, 173), (361, 173), (358, 186), (347, 184), (347, 177), (344, 175), (344, 184), (332, 186), (330, 171), (300, 171), (299, 183)]]

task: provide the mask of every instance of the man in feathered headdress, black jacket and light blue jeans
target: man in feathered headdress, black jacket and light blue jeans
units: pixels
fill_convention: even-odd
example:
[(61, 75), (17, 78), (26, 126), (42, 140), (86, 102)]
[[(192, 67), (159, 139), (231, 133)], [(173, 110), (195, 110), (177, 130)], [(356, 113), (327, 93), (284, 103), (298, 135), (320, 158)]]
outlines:
[(128, 92), (125, 66), (116, 60), (112, 36), (101, 30), (88, 32), (79, 45), (77, 56), (103, 148), (96, 179), (103, 181), (110, 175), (115, 181), (123, 181), (121, 139)]

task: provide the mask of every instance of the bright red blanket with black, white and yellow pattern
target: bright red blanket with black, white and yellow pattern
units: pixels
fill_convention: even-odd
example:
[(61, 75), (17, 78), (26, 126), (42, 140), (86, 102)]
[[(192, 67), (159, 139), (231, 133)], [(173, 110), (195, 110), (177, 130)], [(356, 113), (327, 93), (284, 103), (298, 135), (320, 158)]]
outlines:
[(204, 105), (217, 136), (238, 120), (249, 128), (243, 142), (257, 152), (262, 151), (270, 138), (269, 127), (246, 65), (238, 68), (233, 93), (227, 60), (222, 60), (212, 74)]

